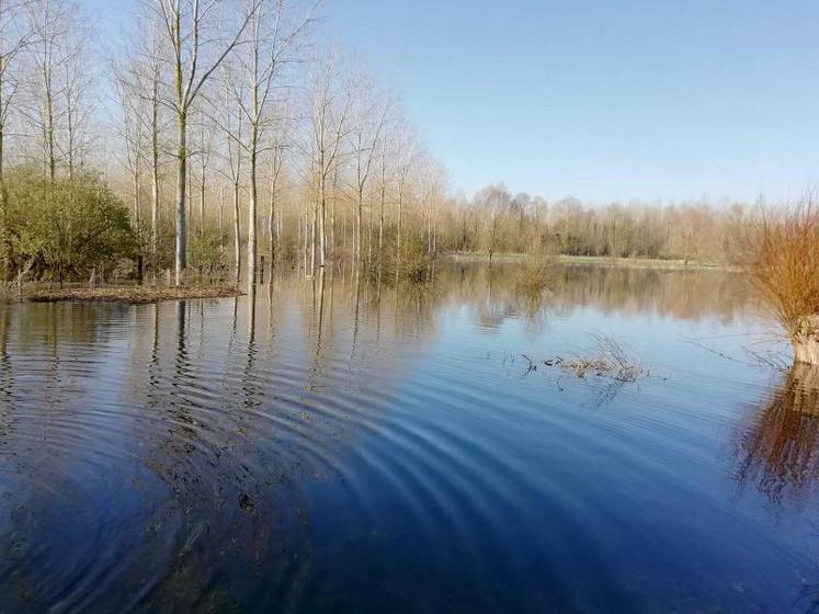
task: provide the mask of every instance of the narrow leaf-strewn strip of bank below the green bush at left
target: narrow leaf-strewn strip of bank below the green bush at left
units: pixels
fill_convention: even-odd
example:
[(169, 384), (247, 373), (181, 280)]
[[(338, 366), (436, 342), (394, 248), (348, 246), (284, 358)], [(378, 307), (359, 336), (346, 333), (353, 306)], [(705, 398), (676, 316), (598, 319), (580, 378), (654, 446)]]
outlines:
[(127, 286), (105, 288), (35, 289), (24, 295), (34, 303), (86, 300), (144, 305), (161, 300), (226, 298), (243, 293), (232, 286)]

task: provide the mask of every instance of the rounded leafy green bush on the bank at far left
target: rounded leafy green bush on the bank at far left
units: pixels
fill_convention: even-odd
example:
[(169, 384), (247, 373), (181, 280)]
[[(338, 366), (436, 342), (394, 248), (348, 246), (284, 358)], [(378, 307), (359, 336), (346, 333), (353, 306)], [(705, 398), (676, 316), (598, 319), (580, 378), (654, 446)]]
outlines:
[(60, 281), (104, 273), (133, 258), (138, 241), (125, 205), (96, 175), (48, 181), (33, 169), (5, 182), (2, 245), (12, 273), (46, 273)]

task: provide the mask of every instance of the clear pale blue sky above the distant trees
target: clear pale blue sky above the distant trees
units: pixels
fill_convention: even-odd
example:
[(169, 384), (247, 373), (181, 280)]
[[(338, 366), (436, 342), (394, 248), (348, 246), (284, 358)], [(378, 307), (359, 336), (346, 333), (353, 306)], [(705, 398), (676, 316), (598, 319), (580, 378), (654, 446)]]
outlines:
[[(111, 20), (127, 1), (86, 0)], [(819, 0), (327, 0), (454, 189), (777, 198), (819, 181)], [(114, 19), (116, 19), (114, 16)]]

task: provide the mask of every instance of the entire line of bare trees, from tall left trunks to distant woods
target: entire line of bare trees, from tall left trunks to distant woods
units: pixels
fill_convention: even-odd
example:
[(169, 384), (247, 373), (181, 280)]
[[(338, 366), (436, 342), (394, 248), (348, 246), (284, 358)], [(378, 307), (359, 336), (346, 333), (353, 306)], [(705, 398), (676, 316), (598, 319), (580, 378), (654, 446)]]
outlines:
[[(315, 0), (0, 0), (4, 280), (240, 275), (448, 251), (729, 261), (749, 207), (451, 194), (401, 101), (323, 44)], [(113, 39), (113, 42), (112, 42)]]

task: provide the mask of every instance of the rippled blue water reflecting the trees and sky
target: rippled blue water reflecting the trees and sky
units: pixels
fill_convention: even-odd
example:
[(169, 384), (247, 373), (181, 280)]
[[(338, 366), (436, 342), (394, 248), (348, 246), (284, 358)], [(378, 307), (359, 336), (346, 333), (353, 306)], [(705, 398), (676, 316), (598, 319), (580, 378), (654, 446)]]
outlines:
[[(819, 378), (742, 283), (515, 275), (0, 307), (0, 612), (819, 610)], [(541, 363), (594, 332), (651, 376)]]

